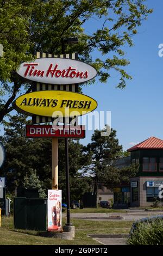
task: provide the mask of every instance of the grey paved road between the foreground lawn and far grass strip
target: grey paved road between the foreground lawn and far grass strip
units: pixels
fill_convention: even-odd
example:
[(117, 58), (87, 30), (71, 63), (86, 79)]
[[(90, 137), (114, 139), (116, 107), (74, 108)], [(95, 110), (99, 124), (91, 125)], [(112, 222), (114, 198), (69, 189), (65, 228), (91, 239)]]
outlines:
[[(147, 212), (147, 211), (139, 211), (139, 212), (126, 212), (126, 213), (98, 213), (98, 214), (71, 214), (71, 218), (80, 218), (83, 220), (92, 220), (92, 221), (115, 221), (115, 217), (122, 217), (124, 221), (135, 221), (139, 220), (140, 218), (146, 218), (149, 216), (155, 216), (155, 215), (163, 215), (163, 212)], [(66, 216), (66, 214), (63, 214), (63, 216)], [(116, 221), (122, 221), (116, 220)]]

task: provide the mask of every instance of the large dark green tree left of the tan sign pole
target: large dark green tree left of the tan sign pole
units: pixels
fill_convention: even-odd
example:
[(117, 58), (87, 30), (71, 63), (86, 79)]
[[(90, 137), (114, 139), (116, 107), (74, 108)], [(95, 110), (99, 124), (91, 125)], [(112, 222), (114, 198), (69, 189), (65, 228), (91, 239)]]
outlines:
[(26, 115), (9, 116), (9, 121), (5, 121), (4, 124), (4, 135), (1, 136), (7, 151), (2, 173), (7, 177), (7, 185), (11, 192), (22, 184), (26, 172), (30, 173), (33, 169), (37, 170), (42, 181), (51, 177), (51, 141), (27, 139), (24, 136), (26, 124), (30, 124)]

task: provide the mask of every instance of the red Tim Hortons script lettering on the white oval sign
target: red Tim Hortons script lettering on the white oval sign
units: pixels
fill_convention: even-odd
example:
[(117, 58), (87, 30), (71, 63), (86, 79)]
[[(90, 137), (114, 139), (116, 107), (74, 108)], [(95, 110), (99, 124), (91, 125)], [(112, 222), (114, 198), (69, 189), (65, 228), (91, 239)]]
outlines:
[(59, 69), (58, 64), (55, 66), (51, 63), (49, 65), (49, 68), (47, 71), (45, 70), (39, 70), (36, 69), (36, 66), (39, 65), (38, 63), (29, 63), (24, 64), (23, 66), (26, 66), (26, 70), (24, 71), (24, 77), (70, 77), (70, 78), (87, 78), (88, 77), (88, 71), (81, 72), (78, 71), (76, 68), (72, 68), (72, 66), (69, 66), (67, 69)]

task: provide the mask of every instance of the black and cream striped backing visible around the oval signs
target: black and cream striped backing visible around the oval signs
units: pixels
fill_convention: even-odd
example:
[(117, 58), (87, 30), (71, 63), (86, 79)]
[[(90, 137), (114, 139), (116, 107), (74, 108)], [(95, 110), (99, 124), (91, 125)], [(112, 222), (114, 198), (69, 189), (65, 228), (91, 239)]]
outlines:
[[(77, 53), (68, 53), (54, 55), (43, 52), (36, 52), (36, 57), (38, 58), (66, 58), (66, 59), (78, 59)], [(66, 90), (67, 92), (78, 92), (77, 84), (45, 84), (45, 83), (34, 83), (32, 92), (37, 92), (40, 90)], [(54, 118), (51, 117), (41, 117), (40, 115), (32, 116), (33, 124), (48, 123), (53, 121)]]

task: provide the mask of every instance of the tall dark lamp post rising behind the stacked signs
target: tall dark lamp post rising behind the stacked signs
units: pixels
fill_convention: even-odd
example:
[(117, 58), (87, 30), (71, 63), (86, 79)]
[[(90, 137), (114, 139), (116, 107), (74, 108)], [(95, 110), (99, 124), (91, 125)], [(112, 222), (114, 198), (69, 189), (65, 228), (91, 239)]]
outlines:
[[(78, 38), (62, 38), (61, 49), (62, 54), (65, 54), (65, 44), (78, 44)], [(67, 192), (67, 223), (66, 226), (71, 226), (70, 222), (70, 180), (69, 180), (69, 162), (68, 162), (68, 138), (65, 138), (65, 163), (66, 163), (66, 192)]]

